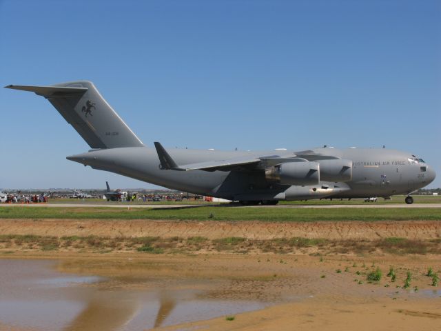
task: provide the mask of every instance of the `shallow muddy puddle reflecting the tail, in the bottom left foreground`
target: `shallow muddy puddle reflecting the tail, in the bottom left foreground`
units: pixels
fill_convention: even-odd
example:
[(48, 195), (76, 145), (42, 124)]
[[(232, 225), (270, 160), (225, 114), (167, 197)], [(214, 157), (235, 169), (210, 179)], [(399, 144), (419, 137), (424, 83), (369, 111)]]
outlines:
[[(91, 266), (0, 259), (0, 325), (17, 330), (145, 330), (284, 300), (281, 295), (267, 297), (264, 288), (232, 290), (231, 279), (158, 277), (156, 267), (121, 272), (123, 265), (110, 262)], [(142, 268), (150, 272), (139, 272)]]

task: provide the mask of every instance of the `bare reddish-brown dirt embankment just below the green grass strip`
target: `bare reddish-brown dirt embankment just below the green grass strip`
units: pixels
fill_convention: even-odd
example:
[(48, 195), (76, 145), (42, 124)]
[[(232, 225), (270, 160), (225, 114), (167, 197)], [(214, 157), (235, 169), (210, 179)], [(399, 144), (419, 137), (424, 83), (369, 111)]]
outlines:
[(378, 240), (387, 237), (407, 239), (441, 238), (439, 221), (151, 221), (98, 219), (1, 219), (0, 234), (34, 234), (38, 236), (97, 237), (206, 237), (220, 239), (277, 239), (307, 237), (329, 240)]

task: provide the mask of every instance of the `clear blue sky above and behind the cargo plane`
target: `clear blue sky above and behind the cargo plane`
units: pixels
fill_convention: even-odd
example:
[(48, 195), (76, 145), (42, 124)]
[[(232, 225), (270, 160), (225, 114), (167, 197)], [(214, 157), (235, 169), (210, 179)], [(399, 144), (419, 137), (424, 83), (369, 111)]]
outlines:
[[(441, 1), (0, 0), (0, 85), (94, 81), (148, 146), (406, 150), (441, 186)], [(152, 188), (0, 89), (0, 188)]]

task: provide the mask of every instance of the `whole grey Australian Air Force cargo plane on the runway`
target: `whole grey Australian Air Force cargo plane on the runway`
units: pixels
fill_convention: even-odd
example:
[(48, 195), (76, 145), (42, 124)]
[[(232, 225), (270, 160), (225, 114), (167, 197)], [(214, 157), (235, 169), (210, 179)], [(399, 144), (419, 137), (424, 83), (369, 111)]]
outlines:
[(145, 146), (101, 97), (90, 81), (53, 86), (6, 86), (35, 92), (83, 137), (89, 152), (68, 160), (174, 190), (244, 204), (280, 200), (409, 195), (433, 179), (435, 171), (409, 152), (381, 149), (165, 150)]

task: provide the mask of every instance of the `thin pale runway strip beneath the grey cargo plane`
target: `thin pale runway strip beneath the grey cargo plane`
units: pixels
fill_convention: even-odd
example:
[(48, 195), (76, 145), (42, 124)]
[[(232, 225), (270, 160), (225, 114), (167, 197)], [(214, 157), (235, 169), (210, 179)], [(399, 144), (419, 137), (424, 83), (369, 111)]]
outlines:
[(30, 204), (21, 204), (21, 203), (2, 203), (0, 207), (5, 208), (41, 208), (41, 207), (49, 207), (49, 208), (148, 208), (148, 209), (183, 209), (183, 208), (200, 208), (200, 207), (230, 207), (230, 208), (441, 208), (441, 203), (413, 203), (411, 205), (407, 205), (405, 203), (387, 203), (387, 204), (376, 204), (376, 203), (366, 203), (366, 204), (323, 204), (323, 205), (231, 205), (231, 204), (219, 204), (219, 205), (178, 205), (178, 204), (170, 204), (170, 205), (144, 205), (144, 204), (110, 204), (110, 203), (30, 203)]

